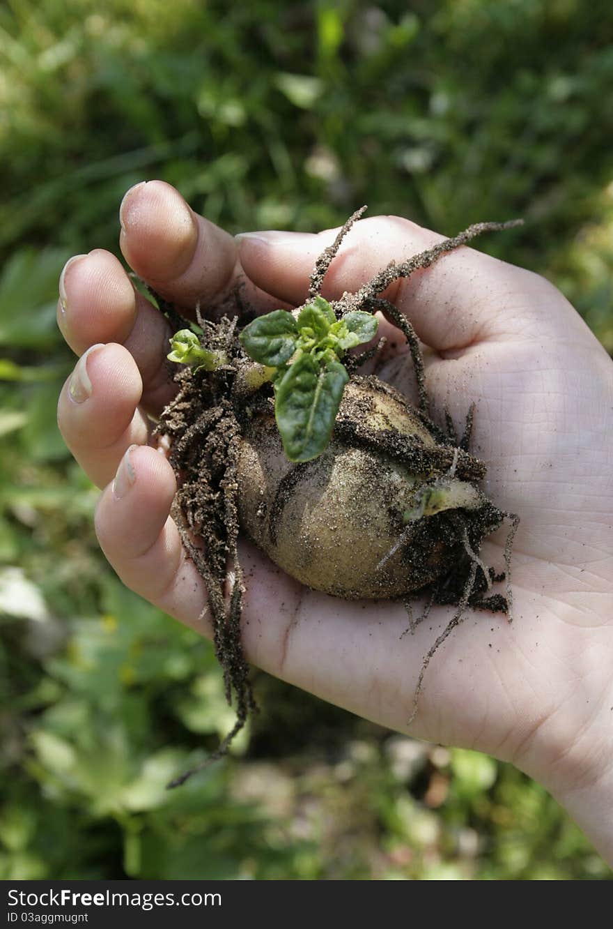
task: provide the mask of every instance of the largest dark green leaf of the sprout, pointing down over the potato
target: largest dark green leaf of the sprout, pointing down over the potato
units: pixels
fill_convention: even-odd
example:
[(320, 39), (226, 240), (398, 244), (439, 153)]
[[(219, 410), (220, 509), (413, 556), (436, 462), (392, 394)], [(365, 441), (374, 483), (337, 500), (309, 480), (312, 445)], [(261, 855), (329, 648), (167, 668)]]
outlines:
[(308, 462), (326, 449), (348, 381), (339, 361), (326, 360), (322, 367), (306, 354), (277, 381), (276, 425), (290, 461)]

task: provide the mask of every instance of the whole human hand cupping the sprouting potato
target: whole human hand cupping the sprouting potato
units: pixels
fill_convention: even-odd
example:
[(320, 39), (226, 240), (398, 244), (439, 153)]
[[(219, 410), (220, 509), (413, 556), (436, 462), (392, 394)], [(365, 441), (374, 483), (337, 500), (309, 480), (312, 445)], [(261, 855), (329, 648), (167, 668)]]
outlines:
[[(122, 204), (121, 250), (185, 314), (244, 299), (262, 311), (300, 304), (313, 262), (335, 232), (255, 233), (234, 240), (153, 181)], [(337, 298), (440, 237), (396, 217), (362, 220), (325, 281)], [(66, 268), (58, 321), (82, 354), (59, 399), (70, 449), (105, 491), (100, 543), (123, 582), (198, 628), (206, 592), (169, 516), (172, 468), (147, 447), (148, 421), (172, 398), (170, 330), (134, 293), (120, 262), (96, 250)], [(411, 319), (435, 410), (461, 427), (477, 403), (472, 451), (483, 490), (521, 517), (513, 552), (515, 622), (471, 612), (431, 661), (412, 735), (489, 752), (539, 779), (613, 858), (613, 363), (564, 297), (542, 278), (462, 248), (385, 294)], [(65, 307), (62, 308), (62, 302)], [(413, 390), (405, 347), (377, 373)], [(89, 390), (91, 386), (91, 391)], [(126, 450), (133, 446), (132, 451)], [(121, 464), (120, 464), (121, 463)], [(114, 485), (109, 482), (119, 473)], [(502, 566), (504, 530), (485, 543)], [(399, 731), (422, 660), (450, 618), (399, 641), (401, 605), (351, 603), (300, 587), (249, 543), (243, 642), (248, 660)]]

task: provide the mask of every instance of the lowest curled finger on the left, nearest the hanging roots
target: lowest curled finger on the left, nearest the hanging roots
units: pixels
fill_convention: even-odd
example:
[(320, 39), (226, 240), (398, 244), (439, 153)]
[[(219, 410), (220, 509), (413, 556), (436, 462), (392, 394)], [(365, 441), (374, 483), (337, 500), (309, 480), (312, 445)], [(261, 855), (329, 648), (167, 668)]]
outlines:
[(96, 507), (98, 541), (128, 587), (204, 635), (206, 589), (170, 516), (176, 482), (157, 451), (131, 447)]

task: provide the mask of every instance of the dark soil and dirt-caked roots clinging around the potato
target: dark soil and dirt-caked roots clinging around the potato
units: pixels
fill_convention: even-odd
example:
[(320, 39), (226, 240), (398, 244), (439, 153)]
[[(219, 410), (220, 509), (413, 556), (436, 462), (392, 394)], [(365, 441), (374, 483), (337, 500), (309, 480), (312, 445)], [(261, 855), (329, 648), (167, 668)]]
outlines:
[[(311, 277), (307, 302), (321, 292), (327, 268), (338, 253), (342, 239), (353, 223), (362, 215), (364, 208), (357, 211), (340, 230), (336, 242), (320, 255)], [(415, 270), (428, 268), (441, 255), (466, 242), (481, 232), (504, 229), (514, 223), (479, 223), (464, 232), (447, 239), (428, 251), (402, 262), (383, 268), (372, 281), (355, 294), (343, 294), (332, 304), (338, 319), (354, 309), (371, 312), (383, 311), (386, 317), (404, 334), (409, 347), (409, 356), (415, 369), (419, 407), (411, 408), (420, 424), (436, 439), (432, 447), (411, 442), (398, 432), (369, 430), (364, 426), (360, 410), (339, 416), (334, 437), (354, 447), (365, 447), (384, 456), (406, 464), (420, 474), (444, 475), (451, 472), (458, 478), (477, 482), (485, 475), (485, 467), (468, 451), (472, 408), (467, 414), (466, 429), (457, 440), (451, 418), (447, 417), (447, 432), (429, 418), (429, 401), (424, 375), (421, 347), (411, 323), (407, 321), (380, 294), (398, 278), (409, 277)], [(157, 295), (156, 295), (157, 296)], [(176, 329), (188, 326), (168, 303), (158, 298), (160, 310)], [(240, 635), (240, 619), (243, 606), (244, 583), (237, 554), (237, 539), (240, 530), (237, 507), (236, 463), (240, 443), (252, 417), (270, 407), (270, 385), (264, 385), (255, 394), (246, 394), (241, 372), (249, 360), (237, 339), (236, 320), (223, 318), (212, 323), (203, 318), (197, 307), (198, 325), (203, 346), (221, 349), (228, 358), (222, 369), (208, 373), (193, 372), (189, 368), (174, 370), (174, 379), (179, 392), (172, 403), (162, 412), (157, 432), (170, 438), (170, 462), (177, 475), (179, 490), (173, 504), (174, 517), (181, 533), (185, 549), (196, 565), (208, 590), (208, 603), (204, 609), (213, 626), (213, 643), (216, 656), (223, 669), (225, 696), (236, 707), (236, 724), (203, 765), (185, 772), (172, 781), (169, 787), (185, 782), (204, 765), (210, 764), (227, 752), (236, 733), (245, 725), (249, 714), (256, 710), (249, 682), (249, 666), (243, 654)], [(351, 370), (377, 349), (370, 349), (361, 356), (351, 359)], [(175, 366), (174, 366), (175, 367)], [(380, 383), (380, 382), (379, 382)], [(278, 506), (283, 506), (300, 480), (301, 469), (308, 467), (297, 464), (289, 469), (284, 487), (277, 494)], [(375, 476), (376, 478), (376, 476)], [(270, 519), (271, 514), (268, 514)], [(275, 524), (275, 514), (272, 514)], [(479, 558), (482, 540), (500, 527), (504, 519), (511, 521), (505, 548), (506, 595), (491, 594), (493, 582), (504, 580), (504, 574), (496, 574)], [(511, 591), (509, 584), (509, 562), (513, 535), (517, 528), (517, 517), (498, 510), (493, 504), (485, 503), (478, 510), (453, 510), (437, 514), (420, 522), (418, 530), (424, 535), (423, 544), (414, 546), (431, 551), (432, 544), (446, 549), (451, 556), (442, 577), (429, 580), (418, 591), (417, 596), (426, 596), (427, 606), (422, 616), (415, 619), (411, 601), (405, 606), (409, 615), (407, 632), (422, 622), (434, 604), (455, 607), (452, 620), (439, 635), (424, 658), (421, 673), (415, 687), (415, 701), (411, 722), (417, 710), (417, 698), (428, 663), (453, 628), (462, 622), (466, 608), (482, 608), (492, 612), (510, 614)], [(402, 527), (401, 527), (402, 528)], [(414, 566), (416, 569), (417, 566)], [(425, 571), (424, 577), (428, 574)], [(510, 615), (509, 615), (510, 618)]]

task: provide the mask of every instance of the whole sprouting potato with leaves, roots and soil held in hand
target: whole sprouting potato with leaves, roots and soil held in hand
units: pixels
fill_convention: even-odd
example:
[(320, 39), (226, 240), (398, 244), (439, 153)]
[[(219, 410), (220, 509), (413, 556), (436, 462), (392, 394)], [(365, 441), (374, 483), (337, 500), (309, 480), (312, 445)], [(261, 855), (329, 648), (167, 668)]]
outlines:
[[(227, 751), (255, 708), (240, 638), (241, 531), (314, 590), (346, 599), (400, 599), (410, 623), (417, 597), (426, 598), (424, 616), (434, 603), (456, 608), (424, 658), (411, 719), (428, 662), (466, 608), (505, 612), (510, 619), (518, 518), (479, 490), (485, 467), (468, 451), (472, 408), (459, 440), (449, 417), (446, 432), (430, 419), (419, 341), (380, 294), (479, 232), (514, 224), (472, 226), (328, 303), (321, 295), (326, 270), (363, 212), (351, 216), (315, 262), (302, 307), (274, 310), (243, 326), (226, 317), (207, 321), (198, 307), (202, 334), (185, 328), (172, 339), (169, 359), (184, 367), (175, 374), (179, 393), (158, 431), (171, 439), (179, 487), (173, 515), (206, 583), (226, 697), (236, 700), (236, 724), (204, 764)], [(160, 307), (169, 310), (163, 301)], [(377, 311), (406, 338), (417, 406), (376, 376), (356, 373), (377, 352)], [(362, 354), (352, 355), (360, 346)], [(486, 566), (479, 551), (505, 518), (512, 527), (504, 596), (492, 593), (504, 574)]]

